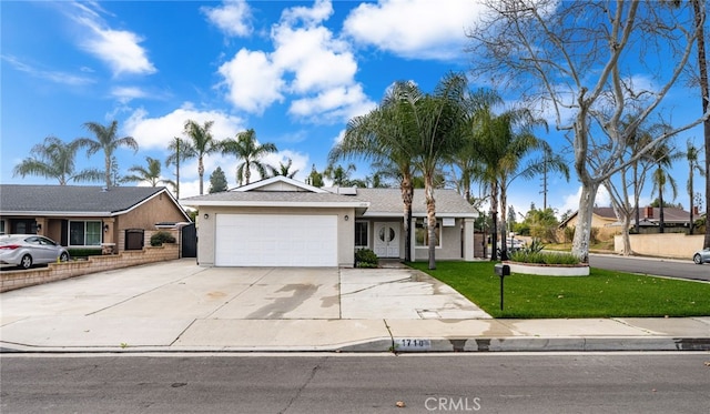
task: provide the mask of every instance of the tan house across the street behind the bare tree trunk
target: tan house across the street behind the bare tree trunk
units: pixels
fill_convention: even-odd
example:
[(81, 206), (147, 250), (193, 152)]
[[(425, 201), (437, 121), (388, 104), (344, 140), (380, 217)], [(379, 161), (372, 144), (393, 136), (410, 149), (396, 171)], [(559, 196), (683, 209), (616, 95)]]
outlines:
[[(700, 219), (698, 210), (693, 214), (694, 220)], [(641, 233), (658, 233), (660, 209), (646, 206), (640, 210), (639, 228)], [(678, 208), (663, 208), (663, 226), (668, 233), (683, 233), (689, 229), (690, 212)], [(631, 216), (629, 226), (636, 224), (636, 214)], [(577, 225), (577, 212), (560, 223), (559, 228)], [(612, 208), (595, 208), (591, 215), (591, 226), (600, 229), (605, 235), (613, 235), (621, 232), (621, 223), (617, 219)]]

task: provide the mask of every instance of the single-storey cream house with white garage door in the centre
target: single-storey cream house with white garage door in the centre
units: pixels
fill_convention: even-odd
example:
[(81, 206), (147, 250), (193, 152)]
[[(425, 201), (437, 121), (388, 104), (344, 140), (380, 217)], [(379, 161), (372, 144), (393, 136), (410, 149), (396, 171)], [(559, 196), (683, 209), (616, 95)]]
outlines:
[[(474, 258), (478, 215), (454, 190), (436, 190), (436, 258)], [(205, 266), (353, 266), (355, 251), (404, 258), (399, 189), (320, 189), (274, 176), (181, 200), (200, 210), (197, 261)], [(413, 204), (412, 258), (428, 258), (424, 190)]]

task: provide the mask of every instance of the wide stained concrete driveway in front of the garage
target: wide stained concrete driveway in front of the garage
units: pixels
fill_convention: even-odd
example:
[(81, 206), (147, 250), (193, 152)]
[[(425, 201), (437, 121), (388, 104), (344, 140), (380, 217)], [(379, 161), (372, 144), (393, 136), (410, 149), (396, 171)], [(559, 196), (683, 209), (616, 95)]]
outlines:
[(1, 294), (4, 350), (321, 349), (390, 342), (386, 320), (488, 314), (406, 267), (200, 267), (194, 260)]

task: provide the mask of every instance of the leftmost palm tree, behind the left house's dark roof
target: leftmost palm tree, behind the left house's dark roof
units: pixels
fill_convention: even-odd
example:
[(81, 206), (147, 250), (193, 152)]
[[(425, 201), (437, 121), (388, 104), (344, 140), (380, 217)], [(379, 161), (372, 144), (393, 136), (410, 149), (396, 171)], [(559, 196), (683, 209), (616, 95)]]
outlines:
[(14, 166), (12, 175), (39, 175), (59, 180), (59, 185), (72, 181), (101, 181), (103, 173), (97, 170), (74, 171), (74, 159), (81, 144), (74, 140), (65, 143), (57, 137), (47, 137), (44, 142), (32, 147), (31, 158)]

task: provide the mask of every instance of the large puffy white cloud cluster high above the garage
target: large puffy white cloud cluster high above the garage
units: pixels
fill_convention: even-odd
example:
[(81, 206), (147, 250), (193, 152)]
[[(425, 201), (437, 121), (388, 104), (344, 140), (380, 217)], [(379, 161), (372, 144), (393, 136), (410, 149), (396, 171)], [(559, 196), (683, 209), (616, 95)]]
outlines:
[(294, 99), (292, 115), (341, 122), (374, 108), (355, 81), (357, 61), (349, 46), (322, 22), (333, 14), (329, 1), (293, 7), (272, 28), (274, 51), (240, 50), (220, 67), (227, 100), (237, 109), (263, 113), (274, 102)]

